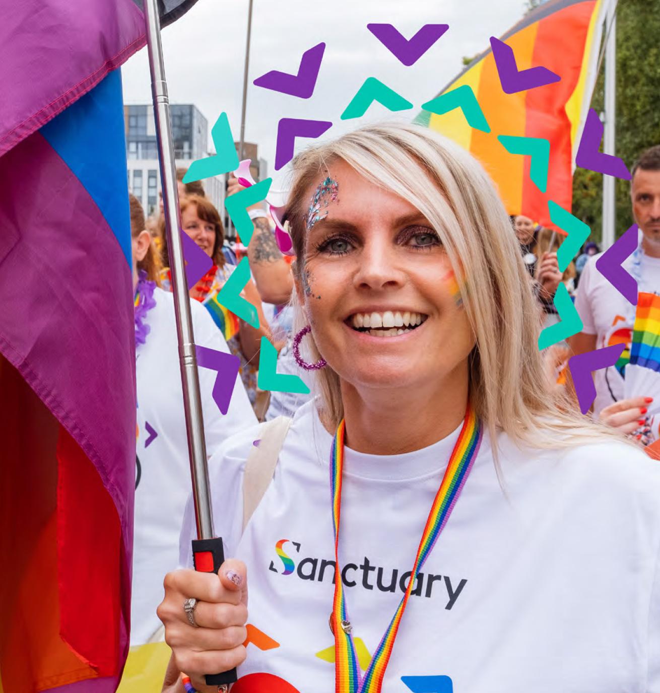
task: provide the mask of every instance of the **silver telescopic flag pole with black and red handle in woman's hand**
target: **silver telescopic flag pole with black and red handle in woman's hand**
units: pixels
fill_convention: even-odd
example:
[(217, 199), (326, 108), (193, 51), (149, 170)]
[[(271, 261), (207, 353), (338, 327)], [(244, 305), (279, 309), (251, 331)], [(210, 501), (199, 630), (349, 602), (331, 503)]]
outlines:
[[(172, 123), (167, 82), (165, 80), (163, 51), (160, 42), (160, 17), (157, 0), (144, 0), (144, 22), (149, 54), (151, 96), (156, 121), (156, 141), (163, 187), (165, 231), (170, 256), (186, 436), (188, 439), (193, 502), (197, 525), (198, 538), (196, 541), (193, 541), (193, 558), (195, 559), (196, 570), (217, 572), (225, 557), (222, 539), (214, 537), (213, 516), (211, 514), (204, 419), (202, 416), (200, 382), (197, 373), (190, 298), (186, 281), (186, 267), (181, 241), (181, 212), (179, 210), (177, 193)], [(191, 608), (194, 608), (194, 605), (191, 605)], [(229, 672), (223, 672), (222, 674), (207, 674), (206, 677), (207, 685), (218, 685), (218, 690), (226, 691), (226, 685), (234, 683), (234, 681), (236, 681), (236, 669), (231, 669)]]

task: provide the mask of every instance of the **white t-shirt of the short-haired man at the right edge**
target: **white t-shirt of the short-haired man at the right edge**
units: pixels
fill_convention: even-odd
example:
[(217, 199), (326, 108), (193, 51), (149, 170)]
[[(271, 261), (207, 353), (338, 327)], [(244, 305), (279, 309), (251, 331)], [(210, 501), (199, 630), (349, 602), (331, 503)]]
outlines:
[[(599, 257), (595, 255), (587, 261), (577, 286), (575, 308), (582, 318), (582, 332), (596, 335), (596, 349), (625, 342), (628, 346), (625, 353), (629, 353), (634, 307), (598, 272), (596, 260)], [(660, 258), (643, 255), (640, 264), (642, 282), (639, 290), (660, 292)], [(623, 267), (631, 271), (632, 257), (626, 259)], [(623, 399), (623, 369), (626, 363), (624, 356), (616, 366), (600, 369), (593, 374), (596, 383), (594, 416), (607, 405)]]

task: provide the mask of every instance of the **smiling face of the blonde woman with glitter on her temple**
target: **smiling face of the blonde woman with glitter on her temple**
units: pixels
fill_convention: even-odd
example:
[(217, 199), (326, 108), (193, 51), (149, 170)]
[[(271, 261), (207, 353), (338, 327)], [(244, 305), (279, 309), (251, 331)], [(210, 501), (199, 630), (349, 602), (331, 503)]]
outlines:
[(297, 282), (322, 356), (357, 389), (437, 389), (450, 374), (467, 377), (475, 339), (428, 220), (342, 161), (327, 177), (305, 198)]

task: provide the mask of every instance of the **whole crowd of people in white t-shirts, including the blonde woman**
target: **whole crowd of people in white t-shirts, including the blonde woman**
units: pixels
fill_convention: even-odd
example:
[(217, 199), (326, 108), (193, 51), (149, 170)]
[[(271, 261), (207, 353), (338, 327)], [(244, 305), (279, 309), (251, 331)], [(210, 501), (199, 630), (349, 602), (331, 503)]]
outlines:
[[(596, 372), (583, 416), (566, 368), (572, 354), (632, 340), (635, 308), (596, 269), (598, 245), (561, 272), (563, 236), (507, 218), (476, 160), (415, 126), (362, 128), (303, 152), (293, 169), (293, 263), (266, 207), (250, 209), (243, 297), (259, 327), (218, 301), (240, 248), (203, 184), (177, 171), (182, 230), (213, 262), (190, 291), (196, 343), (241, 360), (225, 416), (215, 372), (199, 369), (216, 531), (232, 556), (219, 579), (186, 570), (195, 521), (164, 221), (145, 220), (130, 199), (131, 644), (170, 644), (168, 693), (184, 691), (182, 676), (216, 691), (204, 674), (237, 665), (329, 693), (333, 669), (314, 653), (332, 642), (337, 672), (361, 667), (384, 676), (383, 690), (442, 663), (457, 691), (660, 691), (660, 467), (644, 454), (657, 437), (652, 398), (623, 396), (618, 363)], [(240, 189), (229, 179), (228, 195)], [(631, 200), (640, 243), (624, 267), (640, 291), (660, 294), (660, 146), (634, 164)], [(539, 353), (560, 283), (582, 331)], [(310, 395), (259, 390), (264, 336), (277, 371)], [(274, 475), (248, 512), (255, 465)], [(426, 536), (428, 508), (437, 532)], [(434, 512), (444, 519), (431, 522)], [(283, 541), (298, 547), (289, 563)], [(279, 647), (246, 659), (248, 620)], [(371, 664), (356, 665), (358, 638)], [(383, 655), (379, 642), (394, 638)]]

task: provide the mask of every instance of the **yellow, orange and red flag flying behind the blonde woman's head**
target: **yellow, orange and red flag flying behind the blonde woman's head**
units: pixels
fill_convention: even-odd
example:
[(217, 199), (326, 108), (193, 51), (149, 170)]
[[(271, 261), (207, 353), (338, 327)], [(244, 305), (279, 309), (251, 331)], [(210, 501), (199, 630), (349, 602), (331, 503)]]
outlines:
[[(501, 37), (513, 49), (519, 70), (542, 65), (561, 81), (505, 94), (488, 49), (440, 91), (437, 96), (469, 85), (491, 127), (489, 133), (471, 128), (460, 109), (441, 116), (422, 111), (415, 119), (458, 142), (481, 161), (509, 214), (523, 213), (553, 227), (548, 200), (571, 209), (575, 154), (596, 83), (607, 1), (548, 0)], [(501, 134), (550, 141), (546, 193), (530, 179), (530, 157), (507, 152), (497, 139)]]

